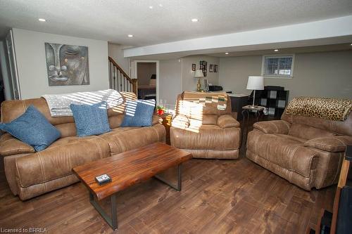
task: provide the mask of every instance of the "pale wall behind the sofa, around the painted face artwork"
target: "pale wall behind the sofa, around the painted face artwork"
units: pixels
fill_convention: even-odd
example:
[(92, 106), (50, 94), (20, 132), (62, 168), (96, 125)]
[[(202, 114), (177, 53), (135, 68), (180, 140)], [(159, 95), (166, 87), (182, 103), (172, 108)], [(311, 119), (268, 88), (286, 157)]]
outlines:
[[(108, 42), (13, 29), (21, 98), (108, 89)], [(45, 42), (88, 46), (89, 85), (49, 86)]]

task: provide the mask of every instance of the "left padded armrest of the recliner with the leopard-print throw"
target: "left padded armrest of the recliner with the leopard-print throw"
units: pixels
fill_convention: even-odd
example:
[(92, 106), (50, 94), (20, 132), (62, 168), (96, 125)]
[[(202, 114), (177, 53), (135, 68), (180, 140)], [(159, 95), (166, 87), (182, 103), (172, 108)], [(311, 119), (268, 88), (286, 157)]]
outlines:
[(289, 134), (291, 124), (284, 120), (270, 120), (265, 122), (256, 122), (253, 124), (254, 129), (263, 131), (265, 134)]

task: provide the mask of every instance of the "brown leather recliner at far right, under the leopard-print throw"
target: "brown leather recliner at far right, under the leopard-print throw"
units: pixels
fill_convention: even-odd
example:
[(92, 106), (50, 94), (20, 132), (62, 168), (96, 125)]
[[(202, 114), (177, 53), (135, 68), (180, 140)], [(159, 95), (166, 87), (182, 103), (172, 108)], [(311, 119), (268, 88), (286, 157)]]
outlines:
[(305, 190), (337, 183), (346, 145), (352, 144), (352, 115), (332, 121), (300, 115), (257, 122), (246, 156)]

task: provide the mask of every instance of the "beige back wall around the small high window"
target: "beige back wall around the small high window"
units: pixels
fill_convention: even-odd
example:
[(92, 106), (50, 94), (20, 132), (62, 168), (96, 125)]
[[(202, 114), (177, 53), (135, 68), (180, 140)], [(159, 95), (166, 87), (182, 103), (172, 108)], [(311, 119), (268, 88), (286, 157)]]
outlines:
[[(236, 93), (246, 90), (249, 75), (260, 75), (262, 56), (220, 58), (219, 83)], [(297, 53), (292, 79), (264, 79), (296, 96), (352, 98), (352, 51)]]

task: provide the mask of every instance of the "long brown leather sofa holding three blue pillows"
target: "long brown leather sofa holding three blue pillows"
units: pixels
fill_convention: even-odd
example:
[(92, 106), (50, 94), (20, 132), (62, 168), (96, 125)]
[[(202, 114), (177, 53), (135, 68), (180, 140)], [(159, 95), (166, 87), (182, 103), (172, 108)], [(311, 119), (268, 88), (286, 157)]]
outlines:
[[(125, 100), (135, 100), (134, 93), (122, 93)], [(112, 131), (99, 136), (77, 137), (73, 117), (51, 117), (44, 98), (9, 100), (1, 104), (1, 122), (11, 122), (34, 105), (61, 132), (61, 138), (42, 150), (34, 152), (30, 145), (3, 134), (0, 155), (4, 157), (5, 174), (14, 195), (21, 200), (68, 186), (78, 181), (73, 167), (132, 150), (143, 145), (165, 142), (165, 128), (159, 117), (153, 126), (119, 127), (124, 117), (125, 102), (108, 110)]]

